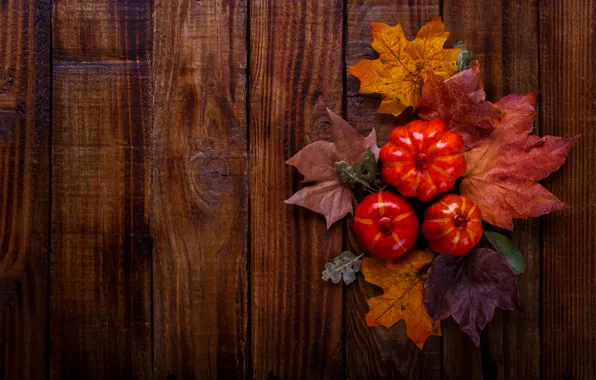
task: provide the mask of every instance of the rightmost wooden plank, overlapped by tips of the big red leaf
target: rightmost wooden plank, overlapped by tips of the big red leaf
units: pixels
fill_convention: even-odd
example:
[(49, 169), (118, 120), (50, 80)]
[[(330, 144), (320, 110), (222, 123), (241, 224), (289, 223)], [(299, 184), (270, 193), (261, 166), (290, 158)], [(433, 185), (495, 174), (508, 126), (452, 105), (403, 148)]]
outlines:
[(570, 208), (544, 218), (544, 378), (596, 378), (596, 3), (540, 2), (543, 134), (582, 138), (547, 188)]

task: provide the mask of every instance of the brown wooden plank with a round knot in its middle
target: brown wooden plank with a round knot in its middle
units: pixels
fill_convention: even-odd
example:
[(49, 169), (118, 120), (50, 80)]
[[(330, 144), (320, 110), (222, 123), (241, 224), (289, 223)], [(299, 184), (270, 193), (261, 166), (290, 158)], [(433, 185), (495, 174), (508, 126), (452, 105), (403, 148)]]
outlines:
[(244, 378), (247, 3), (155, 4), (157, 379)]

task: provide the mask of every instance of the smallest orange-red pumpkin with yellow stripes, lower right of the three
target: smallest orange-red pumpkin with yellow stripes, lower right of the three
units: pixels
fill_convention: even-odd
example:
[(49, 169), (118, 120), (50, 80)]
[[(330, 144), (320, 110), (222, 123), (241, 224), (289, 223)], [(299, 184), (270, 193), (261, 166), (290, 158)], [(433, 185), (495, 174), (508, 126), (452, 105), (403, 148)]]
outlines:
[(445, 195), (426, 209), (422, 235), (435, 252), (464, 255), (482, 237), (482, 214), (469, 198)]

